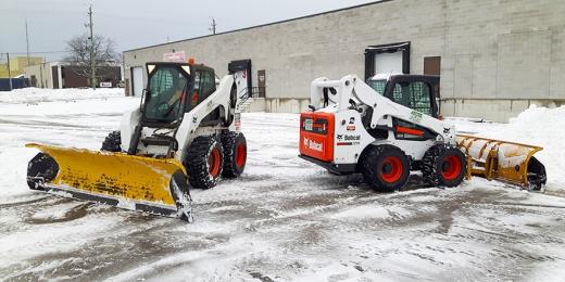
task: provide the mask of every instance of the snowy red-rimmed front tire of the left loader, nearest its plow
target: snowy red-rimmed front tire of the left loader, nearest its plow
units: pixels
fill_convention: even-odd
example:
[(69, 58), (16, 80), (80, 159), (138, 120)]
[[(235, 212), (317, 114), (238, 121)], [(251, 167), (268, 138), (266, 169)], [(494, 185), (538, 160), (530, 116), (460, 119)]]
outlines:
[(188, 148), (185, 167), (193, 188), (215, 187), (224, 167), (222, 142), (216, 137), (197, 137)]

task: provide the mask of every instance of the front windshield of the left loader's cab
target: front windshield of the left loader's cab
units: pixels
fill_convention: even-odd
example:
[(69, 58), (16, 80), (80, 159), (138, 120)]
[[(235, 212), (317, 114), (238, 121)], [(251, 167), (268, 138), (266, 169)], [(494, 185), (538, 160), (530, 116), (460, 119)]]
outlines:
[(166, 123), (176, 120), (184, 112), (180, 107), (187, 80), (176, 67), (158, 67), (149, 79), (146, 118)]

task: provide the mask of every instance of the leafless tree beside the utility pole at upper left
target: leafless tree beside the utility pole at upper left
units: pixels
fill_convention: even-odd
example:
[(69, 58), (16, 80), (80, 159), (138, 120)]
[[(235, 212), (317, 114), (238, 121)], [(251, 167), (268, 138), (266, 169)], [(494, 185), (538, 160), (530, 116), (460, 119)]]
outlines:
[[(115, 51), (115, 42), (103, 36), (96, 35), (93, 37), (93, 56), (96, 67), (96, 78), (98, 81), (108, 73), (108, 66), (120, 63), (120, 54)], [(90, 68), (90, 38), (88, 35), (75, 36), (67, 41), (67, 50), (70, 55), (64, 61), (72, 66), (79, 75), (90, 78), (92, 75)]]

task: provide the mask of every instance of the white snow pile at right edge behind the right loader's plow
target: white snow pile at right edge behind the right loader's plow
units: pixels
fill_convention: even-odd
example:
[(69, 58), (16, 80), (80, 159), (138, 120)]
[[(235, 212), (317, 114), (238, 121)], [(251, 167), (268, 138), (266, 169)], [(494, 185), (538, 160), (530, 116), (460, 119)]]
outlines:
[[(492, 128), (490, 128), (492, 129)], [(531, 105), (504, 127), (482, 130), (478, 136), (539, 145), (535, 156), (545, 165), (548, 191), (565, 193), (565, 106), (556, 108)]]

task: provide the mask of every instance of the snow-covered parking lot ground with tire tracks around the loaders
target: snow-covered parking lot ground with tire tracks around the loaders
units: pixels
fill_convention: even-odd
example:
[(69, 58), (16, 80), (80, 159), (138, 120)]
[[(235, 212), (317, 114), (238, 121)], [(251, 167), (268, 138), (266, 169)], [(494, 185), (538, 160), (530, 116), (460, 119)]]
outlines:
[[(475, 178), (391, 194), (297, 157), (298, 115), (244, 114), (246, 174), (193, 191), (192, 225), (33, 192), (27, 142), (99, 149), (138, 99), (120, 90), (0, 92), (0, 278), (111, 281), (564, 281), (565, 198)], [(539, 144), (548, 189), (565, 107), (460, 130)]]

